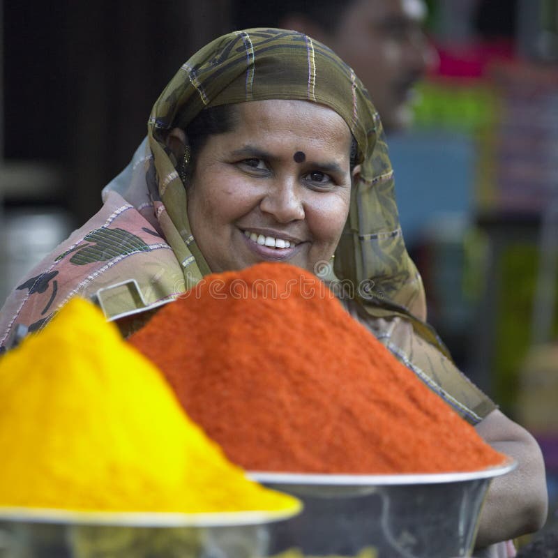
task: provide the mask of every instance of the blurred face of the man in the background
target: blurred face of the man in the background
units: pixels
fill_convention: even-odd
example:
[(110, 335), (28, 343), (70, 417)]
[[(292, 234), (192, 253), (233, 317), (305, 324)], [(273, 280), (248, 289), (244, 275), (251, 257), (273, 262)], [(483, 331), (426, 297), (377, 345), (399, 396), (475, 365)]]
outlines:
[(435, 63), (423, 33), (423, 0), (354, 0), (323, 42), (366, 86), (386, 130), (412, 122), (414, 84)]

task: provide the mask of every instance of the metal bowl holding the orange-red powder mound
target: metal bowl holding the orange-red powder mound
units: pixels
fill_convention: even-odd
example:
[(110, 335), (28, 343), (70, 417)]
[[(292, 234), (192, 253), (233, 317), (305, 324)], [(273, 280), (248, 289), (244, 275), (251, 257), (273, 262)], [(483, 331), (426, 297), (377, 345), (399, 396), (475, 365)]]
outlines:
[(453, 558), (470, 556), (490, 482), (515, 465), (417, 475), (252, 472), (250, 478), (304, 504), (300, 515), (269, 526), (270, 555)]

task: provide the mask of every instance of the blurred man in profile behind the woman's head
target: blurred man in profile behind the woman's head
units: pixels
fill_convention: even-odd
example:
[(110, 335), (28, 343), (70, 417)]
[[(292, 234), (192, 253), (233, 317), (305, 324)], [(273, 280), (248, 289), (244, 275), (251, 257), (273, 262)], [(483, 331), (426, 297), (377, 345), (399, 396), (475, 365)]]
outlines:
[(236, 29), (280, 27), (336, 52), (370, 91), (386, 131), (412, 123), (414, 86), (437, 61), (423, 0), (232, 0)]

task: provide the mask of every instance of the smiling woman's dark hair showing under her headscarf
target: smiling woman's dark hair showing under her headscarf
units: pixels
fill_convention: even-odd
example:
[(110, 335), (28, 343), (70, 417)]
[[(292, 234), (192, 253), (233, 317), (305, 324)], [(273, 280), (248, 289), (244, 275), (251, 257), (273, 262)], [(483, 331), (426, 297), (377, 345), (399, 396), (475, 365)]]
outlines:
[[(218, 105), (206, 108), (197, 114), (195, 119), (186, 126), (186, 137), (190, 145), (189, 174), (195, 172), (197, 158), (207, 143), (209, 136), (232, 132), (239, 121), (235, 105)], [(354, 169), (359, 157), (359, 145), (351, 135), (350, 169)]]

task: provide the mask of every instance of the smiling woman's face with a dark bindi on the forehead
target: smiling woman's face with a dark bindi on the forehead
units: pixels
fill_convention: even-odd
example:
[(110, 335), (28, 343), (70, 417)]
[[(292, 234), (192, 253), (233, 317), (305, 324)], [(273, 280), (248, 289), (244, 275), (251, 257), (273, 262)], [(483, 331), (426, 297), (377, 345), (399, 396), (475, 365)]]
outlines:
[(236, 105), (211, 135), (188, 187), (188, 220), (211, 271), (287, 262), (316, 272), (338, 244), (351, 193), (351, 133), (300, 100)]

